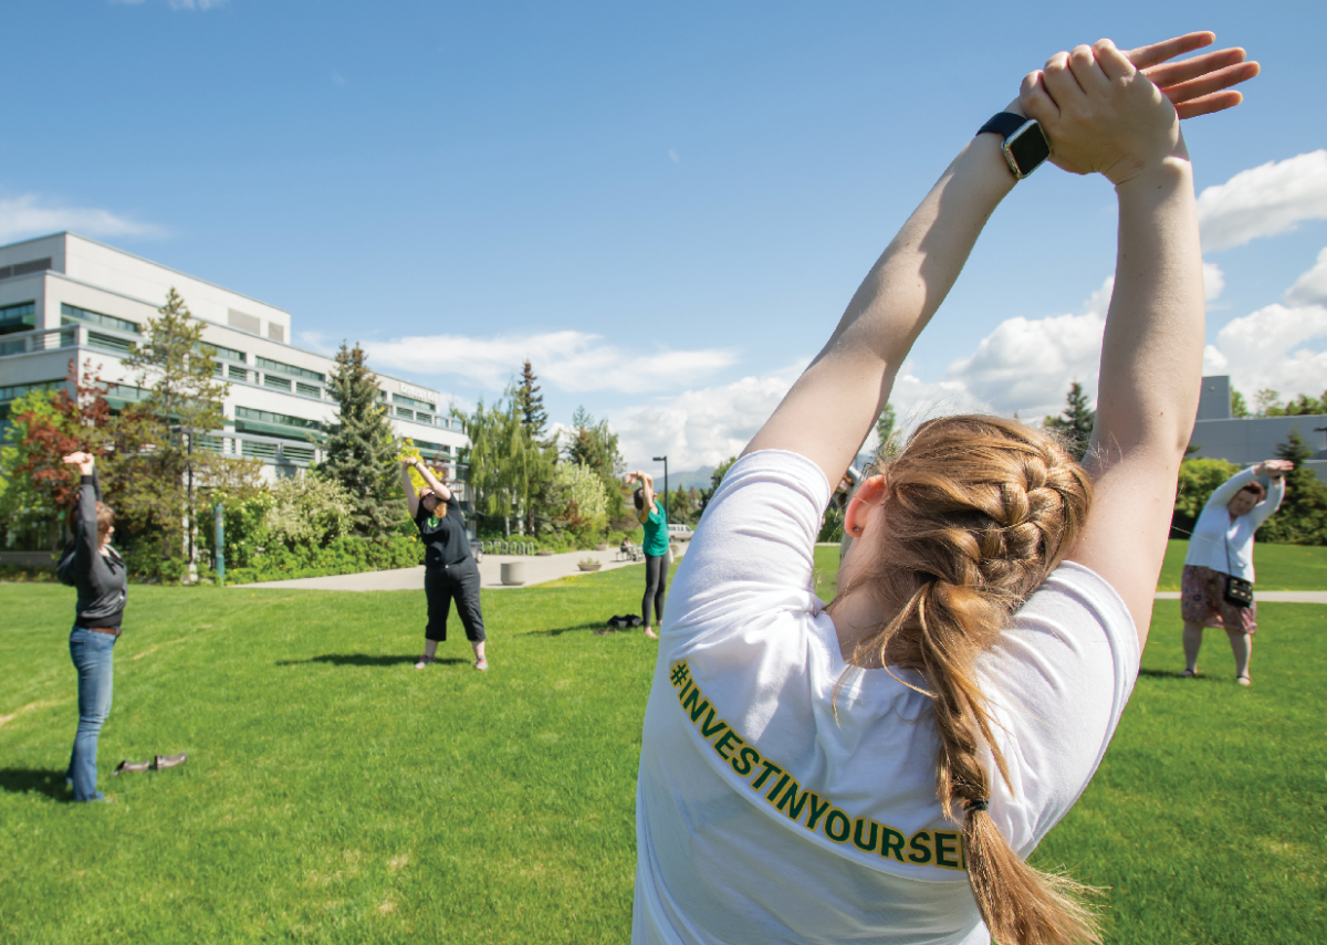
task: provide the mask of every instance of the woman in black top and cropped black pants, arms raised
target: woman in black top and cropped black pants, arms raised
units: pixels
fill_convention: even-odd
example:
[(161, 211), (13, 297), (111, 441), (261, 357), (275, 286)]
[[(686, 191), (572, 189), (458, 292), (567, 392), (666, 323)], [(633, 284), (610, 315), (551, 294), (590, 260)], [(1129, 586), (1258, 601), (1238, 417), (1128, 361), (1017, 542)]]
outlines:
[[(466, 638), (475, 648), (475, 669), (488, 669), (484, 658), (484, 617), (479, 612), (479, 565), (470, 553), (466, 520), (460, 503), (451, 490), (433, 475), (418, 459), (402, 461), (401, 487), (406, 491), (410, 518), (419, 528), (425, 544), (423, 591), (429, 599), (429, 625), (425, 628), (423, 656), (415, 669), (423, 669), (437, 657), (438, 644), (447, 638), (447, 613), (451, 599), (456, 599), (456, 612), (466, 628)], [(415, 492), (410, 479), (414, 466), (429, 488)]]

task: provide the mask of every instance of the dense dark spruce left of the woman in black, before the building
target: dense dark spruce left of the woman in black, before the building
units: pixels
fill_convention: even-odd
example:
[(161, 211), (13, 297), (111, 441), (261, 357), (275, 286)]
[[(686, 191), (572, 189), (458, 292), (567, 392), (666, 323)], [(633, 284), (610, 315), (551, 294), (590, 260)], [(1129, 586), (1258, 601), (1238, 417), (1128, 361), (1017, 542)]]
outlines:
[(385, 538), (406, 514), (397, 457), (401, 445), (387, 425), (387, 405), (378, 377), (369, 370), (364, 349), (356, 342), (336, 353), (328, 376), (328, 392), (340, 405), (337, 423), (326, 445), (320, 472), (345, 486), (354, 502), (354, 534)]

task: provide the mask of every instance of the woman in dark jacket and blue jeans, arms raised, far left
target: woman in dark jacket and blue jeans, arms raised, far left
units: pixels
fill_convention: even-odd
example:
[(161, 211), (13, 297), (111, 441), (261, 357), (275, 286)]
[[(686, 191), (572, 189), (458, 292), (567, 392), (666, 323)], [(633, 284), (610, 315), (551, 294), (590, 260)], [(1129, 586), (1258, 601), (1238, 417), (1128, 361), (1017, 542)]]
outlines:
[(97, 469), (86, 453), (70, 453), (78, 466), (78, 510), (74, 527), (74, 585), (78, 588), (69, 656), (78, 670), (78, 731), (66, 782), (74, 800), (104, 800), (97, 790), (97, 737), (110, 714), (114, 649), (125, 615), (125, 560), (110, 547), (115, 512), (101, 502)]

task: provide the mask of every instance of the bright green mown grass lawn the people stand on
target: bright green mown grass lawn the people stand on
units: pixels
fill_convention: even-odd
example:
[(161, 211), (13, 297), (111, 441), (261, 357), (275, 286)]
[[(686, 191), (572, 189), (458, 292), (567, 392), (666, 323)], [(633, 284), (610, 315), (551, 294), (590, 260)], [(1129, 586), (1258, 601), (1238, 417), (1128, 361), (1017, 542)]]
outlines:
[[(836, 559), (817, 549), (827, 593)], [(1286, 580), (1327, 569), (1286, 560)], [(459, 625), (413, 669), (422, 593), (134, 587), (105, 806), (65, 803), (72, 592), (0, 585), (0, 942), (626, 941), (656, 650), (591, 630), (638, 607), (642, 572), (484, 592), (490, 673)], [(1242, 689), (1223, 634), (1206, 677), (1174, 676), (1178, 604), (1158, 604), (1101, 771), (1036, 855), (1109, 888), (1112, 941), (1323, 938), (1327, 608), (1259, 617)]]

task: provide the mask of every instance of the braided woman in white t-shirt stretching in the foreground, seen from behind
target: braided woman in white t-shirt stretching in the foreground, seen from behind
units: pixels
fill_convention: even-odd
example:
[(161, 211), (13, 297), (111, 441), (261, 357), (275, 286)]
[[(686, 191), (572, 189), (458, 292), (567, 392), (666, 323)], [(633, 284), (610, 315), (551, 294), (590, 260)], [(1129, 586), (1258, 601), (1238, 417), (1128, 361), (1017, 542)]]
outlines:
[[(1078, 887), (1024, 857), (1096, 770), (1151, 618), (1202, 364), (1178, 118), (1237, 104), (1227, 86), (1257, 73), (1242, 50), (1161, 65), (1210, 41), (1079, 46), (1010, 106), (1040, 123), (1054, 163), (1103, 173), (1120, 204), (1082, 467), (1018, 422), (924, 423), (845, 510), (839, 596), (813, 593), (829, 483), (1014, 187), (1001, 130), (962, 149), (725, 476), (660, 634), (634, 942), (1093, 937)], [(998, 291), (1028, 281), (1011, 272)]]

